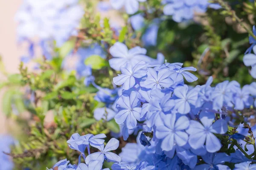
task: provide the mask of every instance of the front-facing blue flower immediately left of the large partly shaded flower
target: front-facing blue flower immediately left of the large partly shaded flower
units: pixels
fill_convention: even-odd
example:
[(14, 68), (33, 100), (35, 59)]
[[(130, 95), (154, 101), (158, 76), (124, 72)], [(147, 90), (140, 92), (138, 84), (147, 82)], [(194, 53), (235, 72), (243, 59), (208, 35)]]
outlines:
[(188, 134), (184, 131), (189, 127), (189, 119), (181, 116), (176, 121), (176, 114), (167, 114), (163, 116), (162, 126), (156, 127), (157, 139), (163, 139), (161, 148), (163, 150), (172, 150), (174, 143), (183, 146), (188, 141)]

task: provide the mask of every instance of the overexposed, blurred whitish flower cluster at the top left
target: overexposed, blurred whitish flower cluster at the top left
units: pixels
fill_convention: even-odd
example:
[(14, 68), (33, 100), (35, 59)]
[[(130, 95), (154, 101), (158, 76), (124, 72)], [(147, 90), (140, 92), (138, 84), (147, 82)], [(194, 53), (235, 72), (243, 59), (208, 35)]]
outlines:
[[(18, 42), (27, 41), (30, 44), (29, 55), (23, 57), (23, 61), (34, 57), (35, 45), (39, 45), (44, 56), (50, 58), (49, 45), (52, 40), (61, 46), (71, 35), (75, 35), (75, 28), (79, 26), (83, 14), (78, 0), (24, 0), (15, 17), (18, 22)], [(34, 42), (35, 37), (40, 42)]]

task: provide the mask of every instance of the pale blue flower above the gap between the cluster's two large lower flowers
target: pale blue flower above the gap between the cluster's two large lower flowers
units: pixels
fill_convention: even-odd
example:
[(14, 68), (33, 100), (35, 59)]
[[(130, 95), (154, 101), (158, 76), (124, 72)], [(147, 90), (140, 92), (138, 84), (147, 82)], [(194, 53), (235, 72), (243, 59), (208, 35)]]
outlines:
[(187, 85), (175, 88), (173, 94), (178, 98), (174, 100), (175, 109), (181, 114), (189, 113), (191, 110), (190, 105), (195, 105), (198, 99), (198, 91), (196, 89), (189, 91)]

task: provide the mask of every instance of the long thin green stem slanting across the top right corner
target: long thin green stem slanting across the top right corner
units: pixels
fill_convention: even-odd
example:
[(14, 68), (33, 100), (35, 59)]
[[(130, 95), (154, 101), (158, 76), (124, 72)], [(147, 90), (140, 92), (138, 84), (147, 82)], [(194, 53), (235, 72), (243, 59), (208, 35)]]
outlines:
[(256, 36), (253, 34), (250, 28), (248, 28), (242, 20), (236, 15), (236, 12), (232, 10), (232, 8), (225, 3), (223, 0), (215, 0), (218, 4), (220, 4), (224, 9), (229, 12), (230, 17), (233, 17), (246, 31), (250, 36), (252, 36), (256, 40)]

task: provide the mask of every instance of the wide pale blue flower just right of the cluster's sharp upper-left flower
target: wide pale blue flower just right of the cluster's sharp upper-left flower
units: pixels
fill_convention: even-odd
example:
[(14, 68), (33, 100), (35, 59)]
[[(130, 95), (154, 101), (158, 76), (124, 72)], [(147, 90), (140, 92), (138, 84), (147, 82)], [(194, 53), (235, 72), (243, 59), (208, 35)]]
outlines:
[(153, 68), (148, 68), (147, 77), (140, 82), (140, 86), (149, 89), (169, 88), (173, 84), (173, 80), (169, 77), (170, 71), (166, 68), (155, 71)]

